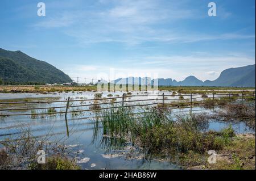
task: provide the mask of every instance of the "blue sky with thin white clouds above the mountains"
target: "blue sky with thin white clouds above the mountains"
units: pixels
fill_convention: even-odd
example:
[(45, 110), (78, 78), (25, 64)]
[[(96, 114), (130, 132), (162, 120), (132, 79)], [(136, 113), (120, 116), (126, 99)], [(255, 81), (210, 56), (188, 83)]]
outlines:
[[(46, 16), (38, 16), (38, 2)], [(217, 16), (208, 16), (215, 2)], [(0, 48), (21, 50), (71, 77), (158, 73), (216, 79), (255, 64), (254, 0), (1, 0)], [(101, 75), (99, 75), (101, 73)]]

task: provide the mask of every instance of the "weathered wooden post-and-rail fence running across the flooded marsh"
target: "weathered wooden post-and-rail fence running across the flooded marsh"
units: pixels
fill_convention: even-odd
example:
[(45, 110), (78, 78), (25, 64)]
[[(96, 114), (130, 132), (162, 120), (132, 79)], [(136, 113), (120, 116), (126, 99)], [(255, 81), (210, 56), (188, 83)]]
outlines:
[[(196, 97), (196, 98), (192, 98), (192, 96), (196, 96), (196, 95), (201, 95), (200, 97)], [(204, 100), (199, 100), (199, 101), (192, 101), (194, 99), (199, 99), (199, 98), (203, 98), (202, 95), (207, 95), (208, 98), (209, 95), (212, 95), (212, 99), (218, 99), (218, 98), (229, 98), (229, 100), (232, 100), (233, 95), (235, 95), (234, 97), (236, 98), (241, 98), (242, 103), (243, 103), (243, 99), (246, 100), (247, 97), (255, 97), (255, 94), (253, 92), (253, 95), (250, 94), (246, 94), (244, 95), (243, 92), (241, 94), (241, 96), (239, 94), (185, 94), (185, 95), (164, 95), (164, 93), (162, 95), (126, 95), (123, 94), (122, 96), (118, 96), (118, 97), (114, 97), (114, 98), (102, 98), (102, 99), (79, 99), (79, 100), (70, 100), (70, 97), (68, 97), (68, 100), (56, 100), (56, 101), (49, 101), (49, 102), (2, 102), (0, 104), (31, 104), (31, 103), (55, 103), (55, 102), (67, 102), (66, 106), (59, 106), (59, 107), (40, 107), (40, 108), (7, 108), (7, 109), (0, 109), (0, 111), (24, 111), (24, 110), (47, 110), (47, 109), (55, 109), (55, 108), (66, 108), (65, 112), (64, 111), (59, 111), (59, 112), (43, 112), (43, 113), (16, 113), (16, 114), (6, 114), (3, 115), (0, 113), (0, 117), (1, 116), (37, 116), (37, 115), (53, 115), (53, 114), (61, 114), (61, 113), (65, 113), (65, 116), (67, 116), (67, 113), (72, 113), (72, 112), (86, 112), (86, 111), (99, 111), (99, 110), (108, 110), (109, 108), (121, 108), (121, 107), (138, 107), (138, 106), (152, 106), (155, 104), (162, 104), (162, 107), (165, 107), (165, 105), (173, 105), (173, 106), (179, 106), (180, 104), (186, 104), (192, 107), (192, 104), (195, 103), (201, 103)], [(226, 96), (216, 96), (216, 95), (226, 95)], [(125, 100), (125, 98), (131, 98), (131, 97), (138, 97), (138, 96), (162, 96), (162, 99), (141, 99), (141, 100)], [(166, 99), (168, 96), (190, 96), (190, 98), (188, 99)], [(109, 99), (118, 99), (118, 98), (122, 98), (122, 101), (118, 101), (118, 102), (108, 102), (108, 103), (96, 103), (96, 104), (84, 104), (84, 105), (75, 105), (75, 106), (70, 106), (69, 103), (70, 102), (82, 102), (82, 101), (98, 101), (98, 100), (109, 100)], [(124, 103), (130, 103), (130, 102), (142, 102), (142, 101), (153, 101), (153, 100), (162, 100), (162, 103), (159, 102), (155, 102), (155, 103), (149, 103), (149, 104), (133, 104), (133, 105), (124, 105)], [(166, 100), (180, 100), (180, 101), (184, 101), (184, 100), (190, 100), (190, 102), (174, 102), (174, 103), (166, 103)], [(105, 105), (105, 104), (117, 104), (117, 103), (122, 103), (122, 106), (115, 106), (115, 107), (105, 107), (105, 108), (93, 108), (93, 106), (100, 106), (100, 105)], [(68, 108), (72, 108), (72, 107), (87, 107), (87, 106), (92, 106), (92, 108), (90, 108), (89, 110), (75, 110), (75, 111), (68, 111)]]

